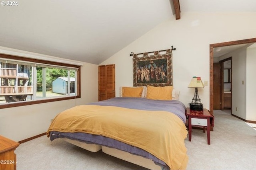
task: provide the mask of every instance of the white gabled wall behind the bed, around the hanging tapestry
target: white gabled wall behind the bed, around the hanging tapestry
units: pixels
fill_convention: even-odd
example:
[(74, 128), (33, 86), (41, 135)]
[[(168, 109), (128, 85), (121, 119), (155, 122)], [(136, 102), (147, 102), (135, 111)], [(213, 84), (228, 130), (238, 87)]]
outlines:
[[(210, 78), (209, 45), (256, 37), (256, 13), (181, 13), (148, 33), (101, 64), (116, 64), (116, 94), (120, 86), (132, 86), (131, 52), (143, 53), (176, 48), (173, 51), (173, 86), (180, 90), (179, 100), (187, 105), (194, 96), (188, 88), (192, 76)], [(209, 108), (209, 86), (198, 89), (205, 108)]]

